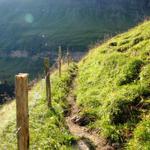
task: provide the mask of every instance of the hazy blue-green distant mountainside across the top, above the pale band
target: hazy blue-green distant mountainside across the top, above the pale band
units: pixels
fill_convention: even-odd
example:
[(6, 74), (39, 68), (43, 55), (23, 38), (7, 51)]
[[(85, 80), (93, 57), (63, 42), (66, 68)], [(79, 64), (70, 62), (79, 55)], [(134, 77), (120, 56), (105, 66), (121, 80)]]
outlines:
[(84, 50), (149, 15), (149, 0), (1, 0), (0, 50)]

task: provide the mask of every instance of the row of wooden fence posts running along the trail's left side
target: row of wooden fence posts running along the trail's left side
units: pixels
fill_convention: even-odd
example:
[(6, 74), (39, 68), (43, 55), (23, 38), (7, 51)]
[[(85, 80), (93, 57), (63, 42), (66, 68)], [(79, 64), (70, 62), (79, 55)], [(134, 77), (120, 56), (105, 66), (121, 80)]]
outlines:
[[(71, 61), (71, 56), (69, 50), (67, 49), (66, 61), (69, 66)], [(53, 72), (56, 68), (58, 68), (59, 77), (61, 77), (61, 67), (62, 67), (62, 51), (61, 47), (59, 47), (58, 61), (56, 61), (49, 68), (49, 59), (44, 60), (45, 64), (45, 79), (46, 79), (46, 91), (51, 92), (50, 84), (50, 73)], [(28, 86), (28, 74), (18, 74), (16, 75), (16, 109), (17, 109), (17, 127), (14, 131), (12, 131), (12, 136), (8, 141), (10, 143), (16, 140), (16, 135), (18, 139), (18, 149), (19, 150), (28, 150), (29, 149), (29, 115), (31, 115), (33, 109), (37, 106), (37, 103), (40, 97), (39, 92), (34, 93), (34, 102), (29, 106), (28, 109), (28, 90), (31, 89), (34, 84), (37, 83), (37, 80), (32, 81), (32, 84)], [(47, 88), (47, 86), (49, 86)], [(44, 85), (41, 86), (40, 91), (42, 91)], [(48, 106), (51, 106), (51, 93), (49, 93), (50, 97), (47, 97)], [(14, 123), (14, 122), (12, 122)], [(4, 131), (5, 132), (5, 131)], [(25, 140), (24, 140), (25, 139)], [(4, 146), (4, 149), (7, 149), (7, 145)]]

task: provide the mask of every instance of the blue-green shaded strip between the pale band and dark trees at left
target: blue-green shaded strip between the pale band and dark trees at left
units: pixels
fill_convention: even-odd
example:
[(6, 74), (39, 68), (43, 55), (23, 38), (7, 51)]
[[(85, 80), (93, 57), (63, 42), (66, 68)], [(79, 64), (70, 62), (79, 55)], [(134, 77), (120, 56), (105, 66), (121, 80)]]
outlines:
[(14, 75), (19, 72), (28, 72), (30, 79), (35, 79), (42, 74), (43, 60), (32, 60), (30, 58), (0, 58), (0, 81), (7, 80), (13, 84)]

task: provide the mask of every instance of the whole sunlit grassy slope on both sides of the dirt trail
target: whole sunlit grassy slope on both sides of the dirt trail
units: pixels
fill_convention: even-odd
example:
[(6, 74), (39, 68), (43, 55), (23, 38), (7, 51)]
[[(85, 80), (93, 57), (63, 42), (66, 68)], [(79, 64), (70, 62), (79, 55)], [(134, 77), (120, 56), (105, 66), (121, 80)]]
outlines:
[[(31, 90), (31, 149), (72, 149), (74, 136), (64, 115), (70, 111), (66, 100), (77, 71), (70, 92), (79, 107), (77, 119), (88, 119), (82, 132), (99, 134), (118, 149), (150, 149), (150, 21), (91, 49), (78, 70), (71, 65), (63, 71), (61, 78), (57, 73), (51, 78), (53, 109), (46, 108), (43, 80)], [(2, 149), (16, 148), (14, 106), (0, 108)]]

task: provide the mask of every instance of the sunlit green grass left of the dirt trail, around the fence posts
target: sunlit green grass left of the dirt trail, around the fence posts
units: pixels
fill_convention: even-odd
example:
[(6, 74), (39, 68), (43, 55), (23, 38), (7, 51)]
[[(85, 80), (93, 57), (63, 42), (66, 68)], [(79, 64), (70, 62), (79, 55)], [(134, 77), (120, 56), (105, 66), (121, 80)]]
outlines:
[[(61, 78), (56, 72), (53, 73), (51, 77), (52, 109), (47, 108), (45, 100), (45, 80), (39, 81), (30, 91), (30, 149), (71, 149), (71, 144), (75, 139), (65, 125), (64, 109), (67, 107), (66, 97), (75, 69), (75, 65), (71, 65), (69, 69), (64, 69)], [(0, 128), (0, 149), (17, 149), (14, 106), (15, 101), (0, 109), (0, 119), (5, 122)]]

